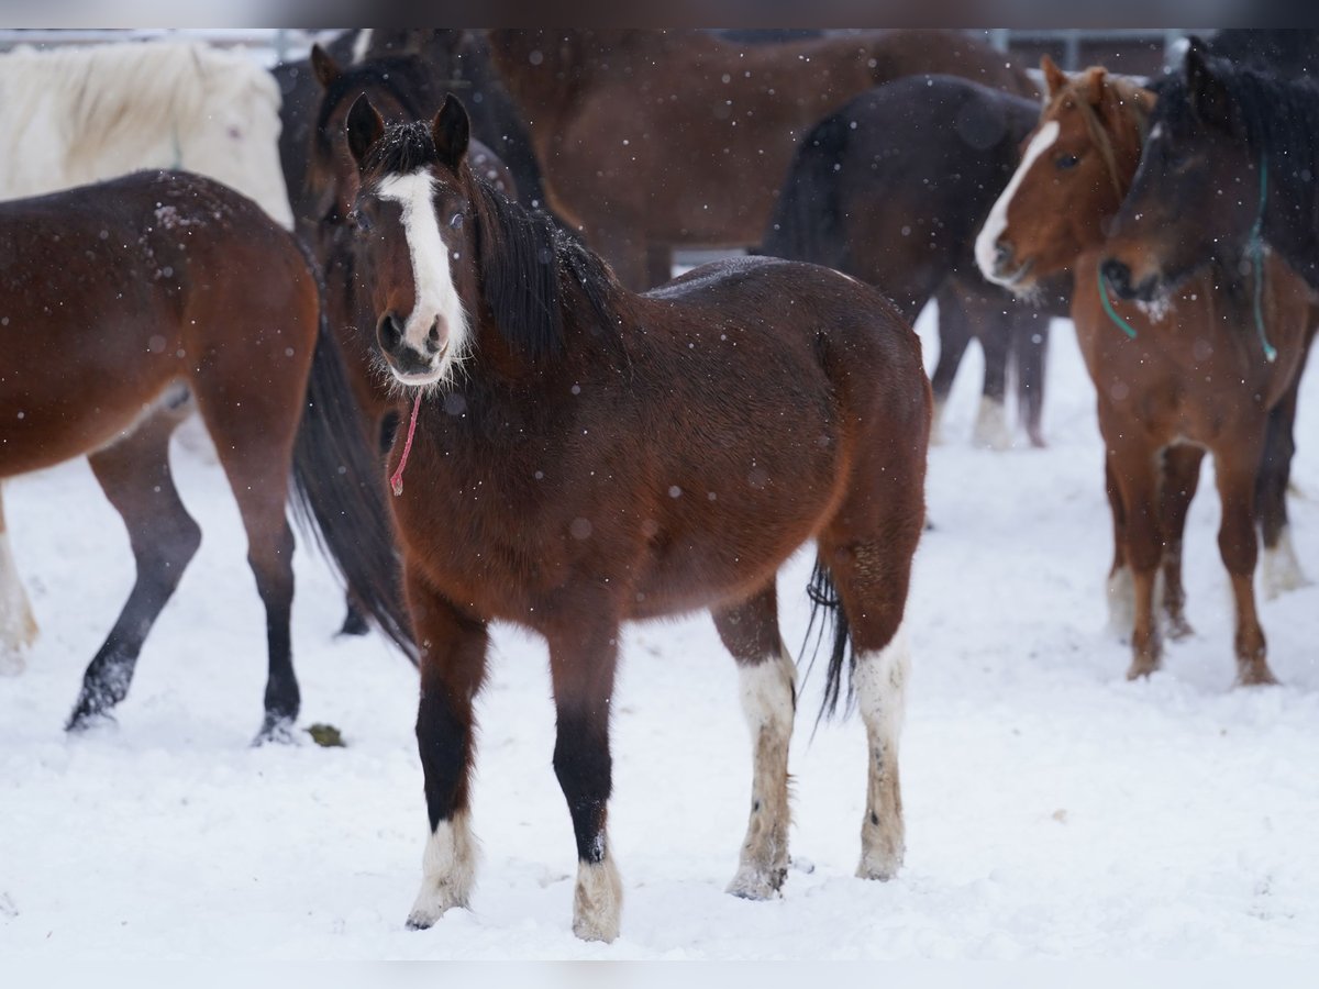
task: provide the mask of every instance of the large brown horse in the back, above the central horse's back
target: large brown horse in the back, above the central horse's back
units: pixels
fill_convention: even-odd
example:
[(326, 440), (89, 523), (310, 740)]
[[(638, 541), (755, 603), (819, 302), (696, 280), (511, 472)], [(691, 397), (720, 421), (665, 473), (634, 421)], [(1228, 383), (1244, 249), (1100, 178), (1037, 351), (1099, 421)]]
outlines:
[(640, 290), (674, 247), (760, 243), (802, 136), (852, 96), (947, 73), (1022, 95), (1034, 83), (963, 32), (890, 30), (773, 45), (703, 30), (491, 29), (547, 206)]

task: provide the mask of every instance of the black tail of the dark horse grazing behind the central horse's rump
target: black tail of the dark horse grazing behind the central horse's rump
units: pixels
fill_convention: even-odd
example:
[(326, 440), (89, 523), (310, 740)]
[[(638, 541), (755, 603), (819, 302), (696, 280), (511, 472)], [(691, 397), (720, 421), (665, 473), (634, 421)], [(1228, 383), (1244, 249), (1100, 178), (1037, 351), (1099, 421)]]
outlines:
[(835, 113), (802, 138), (758, 253), (843, 268), (845, 218), (838, 185), (851, 133), (847, 115)]

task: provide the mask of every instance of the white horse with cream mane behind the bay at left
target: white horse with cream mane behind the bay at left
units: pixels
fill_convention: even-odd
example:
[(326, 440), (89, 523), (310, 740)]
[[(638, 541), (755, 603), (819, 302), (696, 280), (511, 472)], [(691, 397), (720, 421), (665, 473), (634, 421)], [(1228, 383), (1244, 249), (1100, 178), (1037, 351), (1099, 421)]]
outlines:
[[(252, 58), (150, 41), (0, 55), (0, 198), (41, 195), (137, 169), (186, 169), (256, 200), (284, 227), (280, 88)], [(4, 160), (7, 158), (7, 160)], [(37, 636), (0, 500), (0, 674)]]

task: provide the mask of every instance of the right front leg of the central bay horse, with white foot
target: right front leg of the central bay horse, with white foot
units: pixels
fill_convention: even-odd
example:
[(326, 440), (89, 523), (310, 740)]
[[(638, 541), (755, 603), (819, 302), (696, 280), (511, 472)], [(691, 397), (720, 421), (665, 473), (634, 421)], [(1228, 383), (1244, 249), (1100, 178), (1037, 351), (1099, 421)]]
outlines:
[(612, 758), (609, 702), (619, 657), (619, 622), (576, 612), (546, 632), (550, 675), (558, 713), (554, 774), (572, 815), (578, 847), (578, 880), (572, 897), (572, 934), (582, 940), (619, 936), (623, 885), (605, 835)]

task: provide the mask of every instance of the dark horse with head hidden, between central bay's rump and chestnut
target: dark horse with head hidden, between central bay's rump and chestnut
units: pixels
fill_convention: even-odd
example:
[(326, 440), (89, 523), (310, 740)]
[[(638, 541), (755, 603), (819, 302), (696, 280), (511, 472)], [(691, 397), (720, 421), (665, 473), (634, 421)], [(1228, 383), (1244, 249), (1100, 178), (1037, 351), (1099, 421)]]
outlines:
[(962, 356), (977, 338), (985, 369), (976, 442), (1012, 443), (1009, 356), (1026, 434), (1034, 446), (1045, 442), (1049, 319), (1067, 315), (1066, 291), (1051, 286), (1039, 305), (1018, 302), (985, 282), (973, 252), (1038, 117), (1037, 100), (952, 75), (910, 75), (869, 90), (802, 138), (760, 247), (874, 285), (909, 322), (938, 299), (935, 435)]

